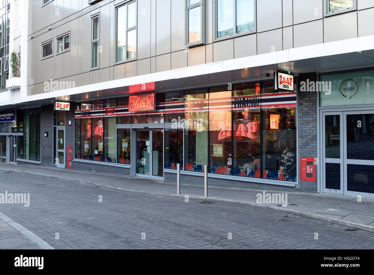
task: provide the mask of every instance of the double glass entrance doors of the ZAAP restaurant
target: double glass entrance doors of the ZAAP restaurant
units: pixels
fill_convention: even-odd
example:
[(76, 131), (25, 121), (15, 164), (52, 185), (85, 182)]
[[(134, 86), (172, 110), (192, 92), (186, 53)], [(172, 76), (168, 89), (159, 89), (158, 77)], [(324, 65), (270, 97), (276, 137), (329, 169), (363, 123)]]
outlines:
[(163, 179), (163, 130), (136, 130), (136, 175)]

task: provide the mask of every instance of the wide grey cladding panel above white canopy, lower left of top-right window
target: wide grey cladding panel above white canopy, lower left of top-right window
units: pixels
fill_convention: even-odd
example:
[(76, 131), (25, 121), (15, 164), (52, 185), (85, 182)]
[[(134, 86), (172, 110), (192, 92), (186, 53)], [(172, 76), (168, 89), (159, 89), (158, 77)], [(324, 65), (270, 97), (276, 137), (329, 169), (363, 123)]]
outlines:
[(294, 25), (295, 48), (320, 43), (324, 43), (323, 19)]

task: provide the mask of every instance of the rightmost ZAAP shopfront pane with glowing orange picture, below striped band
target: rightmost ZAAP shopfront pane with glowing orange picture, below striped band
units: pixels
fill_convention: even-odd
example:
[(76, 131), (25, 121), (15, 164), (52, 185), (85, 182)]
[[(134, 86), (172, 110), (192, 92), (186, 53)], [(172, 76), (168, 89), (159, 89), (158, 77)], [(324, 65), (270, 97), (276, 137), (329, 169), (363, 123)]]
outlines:
[(263, 115), (262, 177), (296, 181), (295, 108), (266, 109)]

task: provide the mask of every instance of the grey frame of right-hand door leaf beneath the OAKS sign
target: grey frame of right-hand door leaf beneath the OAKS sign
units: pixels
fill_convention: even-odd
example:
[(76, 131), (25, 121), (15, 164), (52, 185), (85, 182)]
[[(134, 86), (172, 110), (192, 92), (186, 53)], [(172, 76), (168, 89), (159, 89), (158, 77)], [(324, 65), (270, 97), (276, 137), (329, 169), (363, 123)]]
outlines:
[(344, 111), (343, 112), (343, 133), (344, 133), (344, 195), (350, 195), (350, 196), (362, 196), (367, 198), (374, 198), (374, 194), (371, 193), (362, 193), (362, 192), (356, 192), (356, 191), (348, 191), (348, 184), (347, 184), (347, 177), (348, 177), (348, 170), (347, 166), (348, 164), (358, 164), (358, 165), (372, 165), (374, 166), (374, 160), (352, 160), (347, 158), (347, 115), (357, 115), (357, 114), (373, 114), (374, 109), (371, 110), (365, 110), (365, 111)]

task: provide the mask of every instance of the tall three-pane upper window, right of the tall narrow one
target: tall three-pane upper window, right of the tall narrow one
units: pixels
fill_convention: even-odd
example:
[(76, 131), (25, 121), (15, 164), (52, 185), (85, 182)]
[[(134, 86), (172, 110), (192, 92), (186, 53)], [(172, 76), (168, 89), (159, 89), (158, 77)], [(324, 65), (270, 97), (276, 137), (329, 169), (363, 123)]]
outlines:
[(137, 3), (117, 7), (117, 62), (136, 58)]

